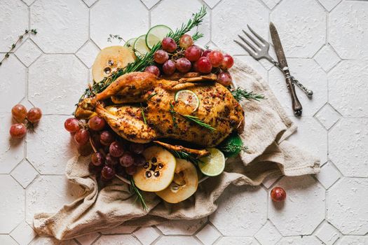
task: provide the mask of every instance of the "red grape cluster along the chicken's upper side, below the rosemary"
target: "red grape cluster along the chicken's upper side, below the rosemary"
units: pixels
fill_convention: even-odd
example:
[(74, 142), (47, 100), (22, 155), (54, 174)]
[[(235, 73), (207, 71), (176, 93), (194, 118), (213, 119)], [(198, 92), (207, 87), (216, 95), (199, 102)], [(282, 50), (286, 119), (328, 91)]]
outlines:
[(179, 47), (175, 40), (170, 37), (161, 41), (162, 50), (154, 53), (154, 65), (147, 66), (147, 72), (160, 76), (167, 76), (175, 71), (199, 73), (217, 73), (217, 81), (224, 86), (231, 85), (231, 76), (227, 71), (234, 64), (231, 55), (224, 55), (216, 50), (203, 50), (194, 45), (193, 38), (184, 34), (179, 39)]

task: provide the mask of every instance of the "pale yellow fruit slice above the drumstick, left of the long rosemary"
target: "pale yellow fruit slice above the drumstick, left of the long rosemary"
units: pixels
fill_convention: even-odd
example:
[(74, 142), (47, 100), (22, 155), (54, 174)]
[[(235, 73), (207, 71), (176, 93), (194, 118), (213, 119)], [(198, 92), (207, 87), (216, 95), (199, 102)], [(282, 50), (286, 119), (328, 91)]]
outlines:
[(117, 69), (124, 68), (135, 61), (135, 54), (130, 48), (110, 46), (101, 50), (92, 66), (92, 76), (96, 83), (110, 76)]

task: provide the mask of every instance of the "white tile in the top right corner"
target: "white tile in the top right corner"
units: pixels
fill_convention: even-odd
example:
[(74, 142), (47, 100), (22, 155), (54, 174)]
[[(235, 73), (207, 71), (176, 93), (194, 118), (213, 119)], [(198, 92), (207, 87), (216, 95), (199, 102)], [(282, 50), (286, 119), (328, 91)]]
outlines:
[(343, 1), (329, 14), (329, 43), (343, 59), (367, 59), (367, 1)]

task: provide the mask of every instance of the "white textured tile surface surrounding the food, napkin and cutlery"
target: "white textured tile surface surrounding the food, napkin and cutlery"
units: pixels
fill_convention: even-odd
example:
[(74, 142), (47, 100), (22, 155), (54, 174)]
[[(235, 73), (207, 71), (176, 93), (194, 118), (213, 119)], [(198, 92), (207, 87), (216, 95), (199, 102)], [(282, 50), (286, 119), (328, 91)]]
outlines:
[[(56, 211), (79, 195), (64, 178), (76, 149), (63, 123), (90, 80), (95, 55), (151, 25), (178, 27), (205, 4), (201, 45), (222, 48), (254, 67), (290, 110), (278, 69), (255, 62), (233, 38), (246, 24), (263, 36), (279, 29), (289, 66), (315, 91), (304, 105), (294, 144), (319, 155), (315, 176), (268, 179), (259, 187), (231, 187), (215, 214), (151, 228), (119, 227), (61, 244), (368, 244), (368, 1), (348, 0), (1, 0), (1, 56), (26, 28), (25, 38), (0, 66), (0, 244), (60, 244), (37, 237), (33, 214)], [(269, 39), (269, 37), (268, 37)], [(271, 50), (272, 53), (273, 50)], [(8, 139), (11, 107), (39, 106), (36, 131)], [(273, 204), (273, 186), (287, 191)]]

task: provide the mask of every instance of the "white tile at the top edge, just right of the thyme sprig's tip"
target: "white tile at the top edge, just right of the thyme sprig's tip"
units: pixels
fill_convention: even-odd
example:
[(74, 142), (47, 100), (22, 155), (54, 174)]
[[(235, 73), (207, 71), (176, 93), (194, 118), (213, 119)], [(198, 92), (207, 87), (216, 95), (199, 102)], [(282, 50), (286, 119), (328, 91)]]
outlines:
[(88, 7), (82, 1), (39, 0), (31, 6), (31, 26), (43, 52), (76, 52), (88, 39)]

